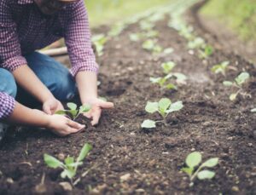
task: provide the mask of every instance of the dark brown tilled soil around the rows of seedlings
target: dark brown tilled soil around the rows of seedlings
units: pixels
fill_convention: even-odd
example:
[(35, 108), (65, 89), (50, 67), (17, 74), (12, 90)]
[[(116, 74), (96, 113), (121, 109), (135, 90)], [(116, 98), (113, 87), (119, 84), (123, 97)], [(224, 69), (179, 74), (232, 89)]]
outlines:
[[(99, 58), (99, 94), (113, 101), (115, 108), (102, 112), (96, 127), (80, 117), (79, 122), (88, 128), (65, 138), (46, 129), (9, 131), (0, 148), (0, 194), (38, 194), (36, 186), (43, 175), (42, 194), (256, 194), (256, 114), (250, 112), (256, 106), (255, 66), (240, 55), (218, 49), (208, 60), (200, 60), (189, 54), (186, 40), (167, 22), (158, 22), (156, 30), (160, 45), (172, 47), (172, 54), (153, 56), (142, 49), (142, 43), (131, 43), (129, 34), (139, 32), (137, 25), (107, 43)], [(177, 63), (175, 72), (189, 77), (177, 91), (160, 90), (149, 82), (149, 77), (162, 75), (160, 63), (168, 60)], [(224, 60), (230, 60), (234, 70), (226, 77), (213, 75), (211, 66)], [(232, 90), (222, 82), (241, 71), (252, 76), (245, 87), (252, 98), (239, 96), (231, 102)], [(183, 100), (184, 108), (167, 118), (168, 126), (141, 129), (144, 119), (160, 118), (146, 113), (144, 107), (148, 100), (161, 97)], [(76, 179), (90, 171), (72, 191), (65, 191), (60, 185), (61, 169), (47, 168), (43, 155), (78, 156), (85, 142), (93, 150)], [(189, 178), (180, 169), (192, 151), (201, 152), (203, 160), (218, 157), (219, 164), (211, 181), (195, 180), (189, 187)]]

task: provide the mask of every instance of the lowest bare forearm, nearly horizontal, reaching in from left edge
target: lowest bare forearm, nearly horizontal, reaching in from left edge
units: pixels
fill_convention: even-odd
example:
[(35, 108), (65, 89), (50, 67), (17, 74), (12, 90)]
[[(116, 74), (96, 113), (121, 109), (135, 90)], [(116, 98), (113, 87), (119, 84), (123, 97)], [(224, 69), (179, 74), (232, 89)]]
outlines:
[(47, 127), (49, 124), (49, 115), (38, 110), (30, 109), (21, 105), (19, 102), (15, 103), (15, 110), (6, 119), (10, 123), (26, 124), (37, 127)]

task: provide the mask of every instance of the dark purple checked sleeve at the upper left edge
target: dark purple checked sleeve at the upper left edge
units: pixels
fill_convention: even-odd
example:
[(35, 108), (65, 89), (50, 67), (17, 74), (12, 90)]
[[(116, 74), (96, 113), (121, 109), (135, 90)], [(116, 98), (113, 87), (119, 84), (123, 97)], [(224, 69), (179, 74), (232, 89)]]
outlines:
[(27, 62), (21, 55), (17, 26), (12, 19), (8, 2), (9, 0), (2, 0), (0, 3), (0, 66), (13, 72)]

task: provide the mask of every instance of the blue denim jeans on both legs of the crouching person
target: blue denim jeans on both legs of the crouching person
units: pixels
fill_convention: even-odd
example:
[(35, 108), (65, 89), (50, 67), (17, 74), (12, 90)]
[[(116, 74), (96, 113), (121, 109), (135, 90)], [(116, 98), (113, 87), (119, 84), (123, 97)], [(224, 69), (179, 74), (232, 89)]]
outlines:
[[(25, 56), (27, 65), (58, 100), (71, 100), (77, 94), (73, 76), (68, 69), (53, 58), (33, 52)], [(25, 76), (26, 77), (26, 76)], [(26, 106), (38, 106), (38, 100), (15, 83), (15, 77), (6, 69), (0, 68), (0, 91), (13, 96)]]

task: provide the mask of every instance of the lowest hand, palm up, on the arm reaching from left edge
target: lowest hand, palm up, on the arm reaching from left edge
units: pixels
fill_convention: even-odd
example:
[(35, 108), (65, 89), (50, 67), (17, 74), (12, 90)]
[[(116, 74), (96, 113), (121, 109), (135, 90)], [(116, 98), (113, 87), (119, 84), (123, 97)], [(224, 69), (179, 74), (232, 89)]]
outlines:
[(66, 136), (74, 134), (84, 129), (85, 125), (74, 122), (73, 120), (66, 118), (62, 115), (49, 115), (49, 128), (53, 133), (60, 136)]

